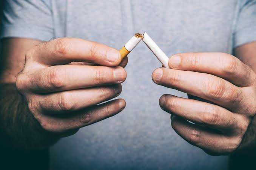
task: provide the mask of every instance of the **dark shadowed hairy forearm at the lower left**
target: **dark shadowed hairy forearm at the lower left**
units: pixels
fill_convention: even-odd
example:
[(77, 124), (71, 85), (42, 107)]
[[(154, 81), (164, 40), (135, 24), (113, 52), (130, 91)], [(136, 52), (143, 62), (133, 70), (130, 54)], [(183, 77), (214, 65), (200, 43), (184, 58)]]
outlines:
[(54, 134), (43, 130), (35, 120), (15, 84), (1, 84), (0, 94), (0, 131), (9, 146), (42, 149), (57, 141)]

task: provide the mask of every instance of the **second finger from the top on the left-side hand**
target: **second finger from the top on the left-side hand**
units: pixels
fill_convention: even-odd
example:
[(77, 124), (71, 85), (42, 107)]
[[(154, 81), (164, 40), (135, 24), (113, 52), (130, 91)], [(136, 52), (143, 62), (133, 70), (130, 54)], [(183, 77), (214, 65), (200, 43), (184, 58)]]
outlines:
[(26, 86), (35, 93), (49, 93), (122, 83), (125, 79), (126, 72), (120, 66), (58, 65), (30, 74)]

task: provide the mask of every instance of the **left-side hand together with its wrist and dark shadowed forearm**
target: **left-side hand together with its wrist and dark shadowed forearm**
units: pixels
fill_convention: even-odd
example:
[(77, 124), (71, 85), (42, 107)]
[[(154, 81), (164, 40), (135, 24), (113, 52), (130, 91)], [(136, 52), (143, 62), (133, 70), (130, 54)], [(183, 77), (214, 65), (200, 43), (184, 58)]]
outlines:
[(123, 99), (99, 104), (119, 96), (126, 79), (128, 60), (116, 49), (78, 38), (11, 38), (2, 56), (0, 127), (15, 147), (49, 147), (125, 108)]

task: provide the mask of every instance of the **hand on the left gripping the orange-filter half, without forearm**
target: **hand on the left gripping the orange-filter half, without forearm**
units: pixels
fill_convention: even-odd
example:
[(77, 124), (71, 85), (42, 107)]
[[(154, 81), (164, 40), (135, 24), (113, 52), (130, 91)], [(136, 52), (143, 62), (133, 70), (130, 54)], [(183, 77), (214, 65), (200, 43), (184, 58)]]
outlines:
[[(29, 50), (25, 61), (16, 87), (47, 132), (68, 136), (125, 108), (123, 99), (97, 105), (119, 96), (126, 79), (123, 67), (117, 66), (120, 53), (113, 48), (59, 38)], [(122, 65), (126, 63), (127, 58)]]

